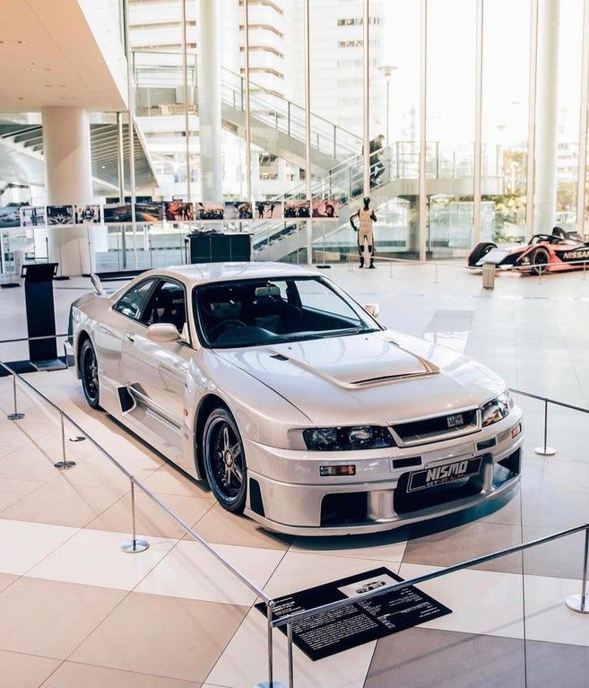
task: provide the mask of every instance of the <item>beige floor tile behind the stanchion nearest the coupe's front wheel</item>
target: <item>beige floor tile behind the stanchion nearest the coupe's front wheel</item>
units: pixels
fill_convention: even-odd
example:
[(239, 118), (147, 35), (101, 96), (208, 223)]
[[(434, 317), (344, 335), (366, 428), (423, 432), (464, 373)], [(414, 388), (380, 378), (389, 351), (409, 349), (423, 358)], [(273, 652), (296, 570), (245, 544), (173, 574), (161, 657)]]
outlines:
[[(158, 495), (169, 509), (174, 511), (189, 526), (203, 518), (212, 503), (199, 497), (184, 497), (175, 494)], [(181, 538), (186, 530), (152, 501), (144, 492), (135, 488), (135, 518), (137, 532), (146, 536)], [(112, 530), (125, 533), (131, 527), (131, 495), (117, 501), (95, 518), (89, 527), (95, 530)]]

